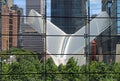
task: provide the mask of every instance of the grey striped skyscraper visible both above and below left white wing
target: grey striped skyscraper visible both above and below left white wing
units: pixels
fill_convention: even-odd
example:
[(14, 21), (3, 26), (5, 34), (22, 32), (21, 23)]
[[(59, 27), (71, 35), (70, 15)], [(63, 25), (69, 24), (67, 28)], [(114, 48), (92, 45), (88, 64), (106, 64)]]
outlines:
[[(36, 10), (38, 13), (43, 14), (44, 11), (41, 6), (44, 6), (44, 0), (26, 0), (26, 15), (29, 15), (31, 9)], [(28, 16), (29, 17), (29, 16)], [(32, 29), (27, 24), (22, 24), (22, 38), (20, 46), (31, 51), (43, 53), (43, 39), (42, 36)]]

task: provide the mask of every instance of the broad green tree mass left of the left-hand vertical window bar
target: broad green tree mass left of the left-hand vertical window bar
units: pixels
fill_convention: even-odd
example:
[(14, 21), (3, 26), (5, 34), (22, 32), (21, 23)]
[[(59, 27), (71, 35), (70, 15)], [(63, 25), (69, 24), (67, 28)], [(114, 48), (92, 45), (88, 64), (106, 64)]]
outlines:
[[(7, 53), (16, 56), (16, 61), (9, 64), (9, 62), (3, 63), (2, 74), (9, 76), (2, 76), (3, 81), (42, 81), (42, 63), (39, 61), (38, 53), (11, 48), (8, 51), (1, 52), (2, 55)], [(8, 56), (3, 56), (5, 59)], [(3, 59), (4, 59), (3, 58)]]

